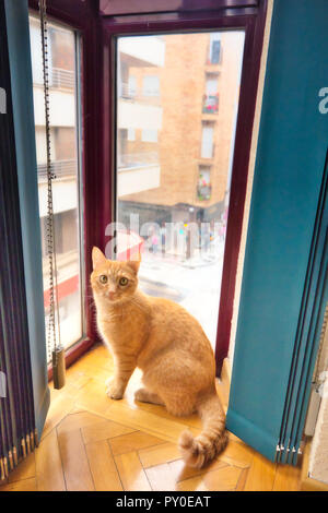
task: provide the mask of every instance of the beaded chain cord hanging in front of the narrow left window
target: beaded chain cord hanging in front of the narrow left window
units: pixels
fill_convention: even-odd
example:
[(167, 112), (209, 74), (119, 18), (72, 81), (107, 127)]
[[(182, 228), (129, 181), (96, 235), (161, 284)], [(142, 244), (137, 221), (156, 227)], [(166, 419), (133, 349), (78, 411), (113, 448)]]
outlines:
[[(39, 0), (39, 17), (43, 49), (43, 74), (44, 74), (44, 95), (45, 95), (45, 119), (46, 119), (46, 150), (47, 150), (47, 186), (48, 186), (48, 205), (47, 205), (47, 250), (49, 262), (49, 322), (47, 330), (48, 357), (61, 348), (60, 325), (59, 325), (59, 298), (57, 284), (57, 262), (56, 262), (56, 240), (54, 229), (54, 204), (52, 204), (52, 180), (56, 176), (51, 171), (50, 155), (50, 120), (49, 120), (49, 71), (48, 71), (48, 31), (47, 31), (47, 4), (46, 0)], [(57, 330), (56, 330), (57, 318)], [(58, 343), (57, 343), (58, 336)], [(56, 356), (55, 356), (56, 358)]]

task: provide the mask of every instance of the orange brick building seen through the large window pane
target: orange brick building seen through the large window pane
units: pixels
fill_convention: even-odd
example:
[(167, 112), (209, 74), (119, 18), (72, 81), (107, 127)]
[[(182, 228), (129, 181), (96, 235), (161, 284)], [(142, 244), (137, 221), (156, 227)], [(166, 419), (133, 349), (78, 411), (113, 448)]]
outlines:
[[(119, 194), (121, 220), (220, 218), (227, 202), (239, 86), (241, 33), (162, 36), (164, 65), (129, 65), (126, 102), (162, 108), (159, 130), (118, 130), (118, 152), (157, 159), (159, 187)], [(126, 214), (126, 215), (125, 215)]]

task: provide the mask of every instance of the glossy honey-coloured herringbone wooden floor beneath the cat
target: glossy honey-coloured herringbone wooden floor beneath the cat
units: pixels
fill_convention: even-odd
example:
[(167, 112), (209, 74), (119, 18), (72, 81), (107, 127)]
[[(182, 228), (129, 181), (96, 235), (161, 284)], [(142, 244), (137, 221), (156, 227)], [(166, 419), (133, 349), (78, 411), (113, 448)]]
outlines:
[[(233, 434), (207, 469), (186, 467), (176, 442), (184, 428), (200, 431), (196, 416), (176, 418), (162, 406), (136, 403), (134, 372), (122, 401), (105, 394), (113, 361), (96, 346), (73, 365), (51, 406), (39, 446), (10, 474), (0, 491), (27, 490), (297, 490), (300, 468), (276, 465)], [(227, 390), (218, 383), (226, 407)]]

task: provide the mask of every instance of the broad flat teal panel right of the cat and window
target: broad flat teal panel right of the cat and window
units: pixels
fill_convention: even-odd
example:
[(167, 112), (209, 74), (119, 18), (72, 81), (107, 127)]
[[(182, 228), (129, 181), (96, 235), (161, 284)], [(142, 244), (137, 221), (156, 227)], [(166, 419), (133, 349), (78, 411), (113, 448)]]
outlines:
[[(276, 0), (227, 427), (272, 457), (328, 146), (328, 1)], [(327, 104), (328, 106), (328, 104)]]

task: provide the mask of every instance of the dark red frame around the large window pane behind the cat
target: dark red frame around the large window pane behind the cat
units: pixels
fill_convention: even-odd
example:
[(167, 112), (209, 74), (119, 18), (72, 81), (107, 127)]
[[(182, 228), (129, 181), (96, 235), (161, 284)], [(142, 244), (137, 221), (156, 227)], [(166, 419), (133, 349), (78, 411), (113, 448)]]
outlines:
[[(253, 2), (254, 3), (254, 2)], [(110, 5), (110, 4), (108, 4)], [(115, 47), (119, 35), (157, 34), (184, 31), (206, 31), (218, 28), (244, 28), (245, 49), (242, 71), (239, 109), (235, 138), (230, 208), (224, 251), (221, 300), (216, 336), (216, 369), (221, 373), (222, 363), (227, 356), (233, 302), (235, 293), (238, 252), (242, 237), (244, 204), (247, 187), (248, 160), (255, 115), (257, 84), (260, 68), (262, 38), (266, 21), (267, 1), (255, 8), (218, 10), (201, 12), (157, 13), (104, 17), (104, 116), (103, 116), (103, 175), (107, 176), (107, 189), (113, 190), (112, 205), (115, 207)], [(108, 194), (108, 192), (107, 192)], [(108, 195), (107, 195), (108, 198)], [(113, 207), (112, 206), (112, 207)], [(107, 210), (109, 218), (112, 212)], [(115, 218), (115, 213), (114, 213)], [(219, 276), (218, 276), (219, 281)]]

